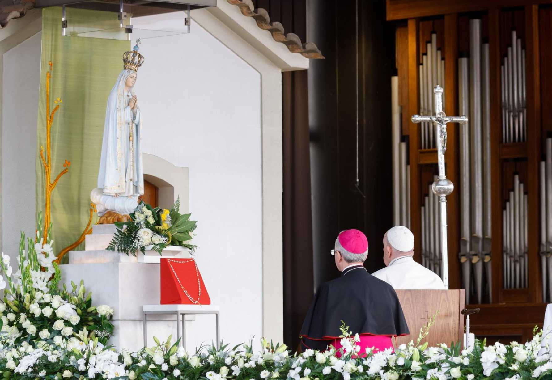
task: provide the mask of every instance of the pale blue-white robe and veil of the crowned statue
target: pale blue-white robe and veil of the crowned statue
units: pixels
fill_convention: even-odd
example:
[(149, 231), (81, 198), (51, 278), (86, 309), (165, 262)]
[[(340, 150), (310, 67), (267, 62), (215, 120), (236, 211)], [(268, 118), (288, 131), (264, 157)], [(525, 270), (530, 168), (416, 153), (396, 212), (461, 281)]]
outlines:
[(124, 69), (109, 93), (105, 110), (102, 157), (98, 173), (98, 188), (104, 195), (131, 196), (144, 194), (144, 167), (142, 165), (142, 115), (140, 108), (130, 109), (129, 100), (134, 90), (125, 92), (130, 74)]

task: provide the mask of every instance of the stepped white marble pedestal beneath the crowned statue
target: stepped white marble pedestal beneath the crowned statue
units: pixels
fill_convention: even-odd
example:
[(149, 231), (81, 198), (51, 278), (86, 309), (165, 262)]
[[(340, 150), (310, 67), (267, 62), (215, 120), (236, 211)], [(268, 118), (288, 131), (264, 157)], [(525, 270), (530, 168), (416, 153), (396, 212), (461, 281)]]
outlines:
[[(113, 224), (93, 226), (93, 233), (86, 237), (86, 250), (70, 251), (69, 264), (61, 265), (62, 282), (84, 281), (87, 291), (92, 291), (92, 304), (107, 304), (114, 309), (112, 323), (114, 337), (110, 340), (117, 349), (138, 351), (144, 346), (142, 333), (142, 307), (159, 304), (160, 257), (189, 257), (182, 247), (167, 247), (160, 256), (155, 251), (137, 257), (105, 250), (113, 237)], [(150, 262), (147, 262), (147, 261)], [(194, 315), (187, 316), (187, 328), (193, 329)], [(161, 341), (171, 334), (176, 336), (176, 320), (159, 315), (148, 322), (148, 346), (154, 345), (153, 336)]]

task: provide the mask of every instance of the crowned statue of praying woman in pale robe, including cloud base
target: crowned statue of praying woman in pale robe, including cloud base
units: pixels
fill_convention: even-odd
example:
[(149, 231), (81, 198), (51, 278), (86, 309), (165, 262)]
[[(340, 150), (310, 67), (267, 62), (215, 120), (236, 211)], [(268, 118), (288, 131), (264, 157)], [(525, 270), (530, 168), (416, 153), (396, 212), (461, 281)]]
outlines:
[(144, 63), (139, 43), (123, 54), (124, 69), (109, 93), (105, 110), (98, 188), (91, 193), (100, 223), (126, 221), (126, 214), (134, 211), (138, 197), (144, 194), (143, 117), (134, 93), (137, 71)]

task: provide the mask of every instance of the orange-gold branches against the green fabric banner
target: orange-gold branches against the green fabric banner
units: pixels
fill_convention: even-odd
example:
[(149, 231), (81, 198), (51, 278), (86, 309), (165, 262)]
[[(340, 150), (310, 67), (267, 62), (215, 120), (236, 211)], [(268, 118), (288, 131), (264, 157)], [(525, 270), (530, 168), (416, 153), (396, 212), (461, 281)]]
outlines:
[[(57, 174), (54, 181), (51, 181), (51, 144), (52, 144), (52, 138), (51, 138), (51, 132), (52, 132), (52, 124), (54, 124), (54, 115), (57, 110), (60, 109), (60, 105), (62, 103), (62, 100), (60, 98), (56, 98), (54, 100), (54, 104), (56, 106), (52, 111), (50, 111), (50, 79), (52, 77), (52, 62), (48, 62), (50, 65), (50, 69), (48, 72), (46, 72), (46, 158), (44, 157), (44, 147), (40, 146), (40, 160), (42, 161), (43, 167), (44, 167), (44, 174), (46, 176), (45, 179), (45, 205), (44, 205), (44, 232), (43, 232), (43, 242), (48, 242), (48, 233), (49, 229), (51, 227), (51, 210), (50, 210), (50, 200), (52, 196), (52, 191), (54, 191), (57, 182), (60, 180), (61, 176), (63, 174), (66, 174), (69, 171), (69, 167), (71, 166), (71, 161), (65, 160), (63, 163), (63, 167), (65, 169), (61, 170), (59, 174)], [(96, 205), (93, 203), (90, 204), (90, 216), (88, 218), (88, 224), (86, 227), (84, 227), (84, 231), (82, 232), (81, 236), (77, 239), (77, 241), (71, 245), (68, 245), (67, 247), (63, 248), (60, 253), (57, 255), (57, 259), (55, 260), (57, 264), (60, 264), (61, 259), (63, 256), (67, 254), (68, 251), (70, 251), (73, 248), (76, 248), (79, 244), (81, 244), (84, 239), (86, 238), (86, 235), (92, 233), (92, 228), (90, 227), (90, 224), (92, 223), (92, 216), (93, 213), (96, 211)]]

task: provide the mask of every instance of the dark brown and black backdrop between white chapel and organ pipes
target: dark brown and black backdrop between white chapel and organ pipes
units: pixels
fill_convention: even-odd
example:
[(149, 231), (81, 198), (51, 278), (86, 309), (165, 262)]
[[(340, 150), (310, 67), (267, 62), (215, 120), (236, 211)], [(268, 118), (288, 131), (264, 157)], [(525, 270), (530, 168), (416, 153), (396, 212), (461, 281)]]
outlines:
[[(384, 1), (253, 3), (281, 22), (285, 33), (315, 42), (326, 58), (283, 75), (284, 342), (295, 349), (316, 287), (339, 275), (330, 250), (340, 231), (363, 231), (369, 242), (365, 266), (369, 272), (384, 266), (381, 240), (392, 226), (395, 25), (385, 21)], [(363, 195), (354, 186), (357, 84)]]

